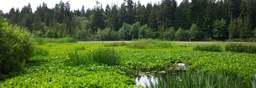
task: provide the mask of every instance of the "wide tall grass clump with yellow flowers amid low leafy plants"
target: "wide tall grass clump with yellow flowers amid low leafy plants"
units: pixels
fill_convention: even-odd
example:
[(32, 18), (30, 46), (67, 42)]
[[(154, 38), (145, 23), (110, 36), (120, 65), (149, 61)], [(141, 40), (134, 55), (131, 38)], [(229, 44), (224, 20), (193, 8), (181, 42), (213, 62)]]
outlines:
[(98, 48), (88, 51), (75, 51), (65, 54), (66, 65), (89, 65), (91, 63), (118, 65), (118, 52), (110, 48)]

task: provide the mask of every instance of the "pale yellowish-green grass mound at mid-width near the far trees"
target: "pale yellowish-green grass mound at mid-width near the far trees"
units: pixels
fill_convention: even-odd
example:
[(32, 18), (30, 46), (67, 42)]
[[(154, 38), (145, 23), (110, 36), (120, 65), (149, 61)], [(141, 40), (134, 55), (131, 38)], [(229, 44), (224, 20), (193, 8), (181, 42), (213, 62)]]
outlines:
[(145, 48), (170, 48), (172, 43), (164, 42), (159, 39), (139, 39), (133, 40), (129, 44), (130, 48), (145, 49)]

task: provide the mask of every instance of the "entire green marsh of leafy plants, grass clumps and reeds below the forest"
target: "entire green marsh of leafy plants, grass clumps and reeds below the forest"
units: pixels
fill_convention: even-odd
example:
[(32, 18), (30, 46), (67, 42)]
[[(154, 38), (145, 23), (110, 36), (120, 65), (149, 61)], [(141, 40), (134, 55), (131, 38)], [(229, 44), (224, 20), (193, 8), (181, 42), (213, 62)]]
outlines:
[[(211, 51), (211, 46), (215, 48), (216, 45), (220, 46), (221, 51)], [(231, 50), (235, 49), (235, 45), (231, 45), (233, 43), (174, 43), (152, 39), (134, 40), (131, 43), (44, 43), (36, 45), (36, 52), (29, 59), (30, 63), (26, 64), (25, 71), (16, 72), (15, 76), (2, 80), (0, 84), (98, 87), (255, 86), (255, 51), (251, 49), (254, 53), (235, 52)], [(198, 48), (199, 46), (206, 49)], [(255, 49), (255, 43), (237, 44), (238, 49), (248, 49), (248, 46)], [(185, 72), (170, 72), (178, 63), (190, 65)], [(143, 72), (145, 74), (138, 77)], [(141, 80), (146, 81), (146, 84)]]

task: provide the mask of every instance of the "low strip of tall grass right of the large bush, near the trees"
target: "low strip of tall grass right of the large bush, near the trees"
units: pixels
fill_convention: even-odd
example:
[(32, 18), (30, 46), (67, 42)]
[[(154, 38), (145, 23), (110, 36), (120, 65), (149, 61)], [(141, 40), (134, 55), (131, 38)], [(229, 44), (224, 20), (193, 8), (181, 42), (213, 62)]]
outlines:
[(74, 43), (75, 38), (35, 38), (38, 45), (44, 45), (46, 43)]

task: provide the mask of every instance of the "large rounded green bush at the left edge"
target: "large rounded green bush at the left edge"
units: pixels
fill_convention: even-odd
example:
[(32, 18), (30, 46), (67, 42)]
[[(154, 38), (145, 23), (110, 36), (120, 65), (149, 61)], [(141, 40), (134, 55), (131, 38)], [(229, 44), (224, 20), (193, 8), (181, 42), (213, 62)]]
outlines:
[(32, 56), (35, 42), (30, 33), (19, 26), (0, 24), (0, 73), (22, 70)]

